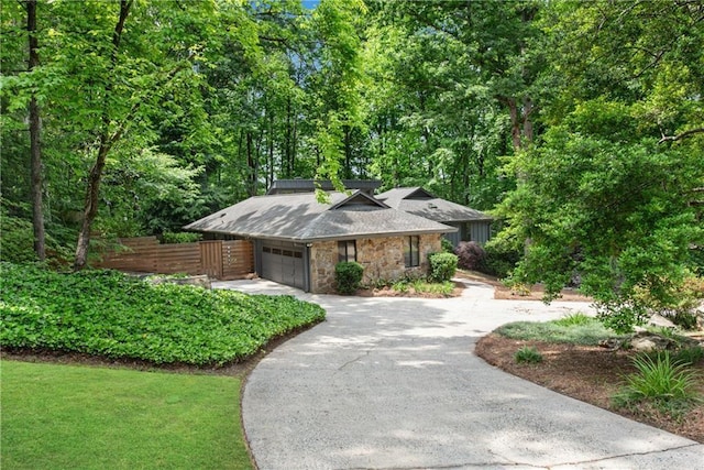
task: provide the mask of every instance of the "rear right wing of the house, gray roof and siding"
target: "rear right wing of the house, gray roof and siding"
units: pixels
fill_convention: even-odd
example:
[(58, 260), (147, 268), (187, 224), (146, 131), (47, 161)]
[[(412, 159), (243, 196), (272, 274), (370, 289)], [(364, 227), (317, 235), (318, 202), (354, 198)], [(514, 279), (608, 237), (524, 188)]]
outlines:
[(458, 245), (460, 241), (485, 243), (491, 237), (492, 217), (479, 210), (435, 197), (421, 187), (402, 187), (376, 195), (376, 199), (394, 209), (435, 220), (458, 230), (446, 238)]

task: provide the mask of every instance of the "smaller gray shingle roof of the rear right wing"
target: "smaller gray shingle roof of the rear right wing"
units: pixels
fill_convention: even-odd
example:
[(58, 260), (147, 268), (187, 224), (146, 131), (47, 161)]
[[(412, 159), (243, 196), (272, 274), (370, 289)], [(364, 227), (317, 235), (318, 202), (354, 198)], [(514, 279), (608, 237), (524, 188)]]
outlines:
[(484, 212), (435, 197), (421, 187), (389, 189), (377, 195), (376, 198), (394, 209), (438, 222), (492, 220), (492, 217)]

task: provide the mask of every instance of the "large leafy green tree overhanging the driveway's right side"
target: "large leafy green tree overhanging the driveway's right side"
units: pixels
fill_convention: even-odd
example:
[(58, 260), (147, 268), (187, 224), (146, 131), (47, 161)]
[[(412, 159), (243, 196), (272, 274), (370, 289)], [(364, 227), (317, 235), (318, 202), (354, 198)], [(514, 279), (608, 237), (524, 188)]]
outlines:
[[(704, 9), (692, 2), (556, 3), (544, 23), (548, 130), (512, 170), (499, 240), (530, 240), (517, 282), (576, 281), (617, 328), (688, 276), (704, 242)], [(697, 65), (698, 64), (698, 65)], [(648, 295), (644, 295), (644, 292)]]

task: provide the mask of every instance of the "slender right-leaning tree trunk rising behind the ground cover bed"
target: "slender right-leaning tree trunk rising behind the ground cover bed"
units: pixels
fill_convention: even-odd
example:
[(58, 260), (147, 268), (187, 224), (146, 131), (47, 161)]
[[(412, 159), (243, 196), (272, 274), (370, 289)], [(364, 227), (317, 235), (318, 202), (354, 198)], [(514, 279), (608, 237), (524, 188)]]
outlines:
[[(114, 68), (118, 62), (118, 51), (120, 48), (120, 41), (122, 39), (122, 31), (124, 30), (124, 22), (130, 13), (132, 7), (132, 0), (120, 1), (120, 18), (114, 25), (112, 32), (112, 51), (111, 51), (111, 67)], [(112, 77), (109, 77), (111, 79)], [(90, 168), (88, 175), (88, 185), (86, 188), (86, 201), (84, 208), (84, 220), (80, 226), (80, 232), (78, 233), (78, 243), (76, 243), (76, 260), (74, 261), (74, 271), (79, 271), (86, 267), (88, 263), (88, 247), (90, 244), (90, 230), (94, 220), (98, 215), (98, 203), (100, 196), (100, 179), (102, 177), (102, 170), (106, 166), (106, 159), (110, 149), (114, 142), (120, 138), (120, 133), (110, 135), (110, 109), (109, 99), (112, 94), (112, 85), (110, 81), (106, 85), (106, 97), (102, 110), (102, 129), (100, 130), (100, 146), (98, 147), (98, 155), (96, 163)]]

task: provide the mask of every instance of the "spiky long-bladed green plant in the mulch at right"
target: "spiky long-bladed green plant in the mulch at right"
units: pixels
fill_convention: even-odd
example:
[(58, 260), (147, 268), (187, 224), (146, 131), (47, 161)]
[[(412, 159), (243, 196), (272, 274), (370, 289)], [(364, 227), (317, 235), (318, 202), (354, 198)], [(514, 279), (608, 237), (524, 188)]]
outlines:
[(616, 406), (650, 401), (660, 409), (696, 400), (695, 375), (684, 363), (675, 363), (668, 351), (654, 359), (641, 354), (634, 359), (637, 373), (626, 376), (626, 385), (614, 395)]

